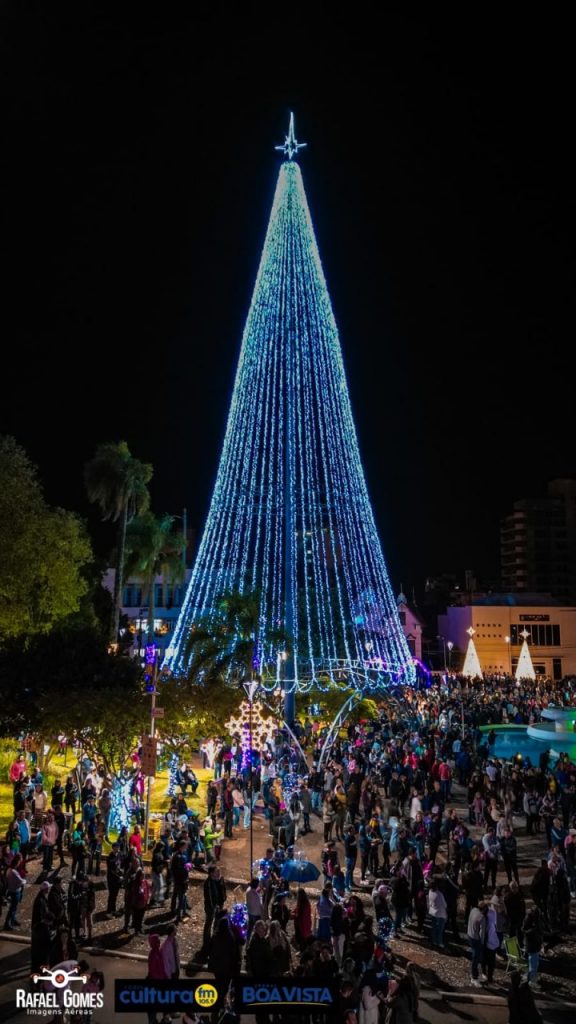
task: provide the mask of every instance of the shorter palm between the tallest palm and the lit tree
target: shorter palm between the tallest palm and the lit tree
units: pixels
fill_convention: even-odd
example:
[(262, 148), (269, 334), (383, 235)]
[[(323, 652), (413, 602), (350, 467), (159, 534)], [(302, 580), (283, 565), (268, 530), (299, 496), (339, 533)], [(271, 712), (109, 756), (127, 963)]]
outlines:
[(154, 643), (156, 617), (156, 577), (166, 584), (180, 583), (184, 574), (182, 551), (186, 538), (173, 530), (174, 516), (143, 512), (128, 525), (126, 532), (126, 575), (142, 583), (142, 601), (148, 600), (148, 642)]

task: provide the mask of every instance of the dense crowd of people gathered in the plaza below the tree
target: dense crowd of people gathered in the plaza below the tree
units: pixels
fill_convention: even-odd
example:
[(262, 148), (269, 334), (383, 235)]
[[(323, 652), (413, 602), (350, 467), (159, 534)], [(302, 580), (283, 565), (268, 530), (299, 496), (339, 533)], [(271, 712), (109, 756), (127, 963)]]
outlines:
[[(404, 1024), (417, 1017), (419, 975), (414, 966), (398, 968), (395, 942), (403, 941), (439, 955), (467, 950), (472, 987), (501, 982), (520, 965), (515, 1006), (528, 1004), (526, 985), (540, 983), (542, 950), (570, 931), (576, 767), (568, 754), (544, 746), (538, 764), (521, 756), (505, 762), (494, 755), (490, 726), (538, 721), (549, 703), (571, 705), (574, 696), (573, 681), (519, 686), (502, 677), (481, 683), (448, 676), (425, 689), (396, 690), (377, 721), (349, 723), (328, 751), (311, 728), (302, 728), (301, 743), (277, 730), (249, 758), (240, 737), (210, 741), (203, 751), (213, 770), (206, 806), (197, 806), (193, 769), (180, 766), (180, 792), (163, 816), (150, 870), (140, 818), (121, 829), (102, 859), (110, 791), (101, 778), (98, 785), (97, 772), (81, 783), (74, 775), (56, 779), (48, 797), (38, 769), (29, 772), (26, 758), (16, 758), (14, 818), (0, 852), (5, 927), (18, 927), (35, 850), (42, 881), (33, 965), (59, 963), (90, 941), (92, 879), (102, 870), (108, 915), (121, 915), (126, 934), (137, 935), (150, 908), (164, 907), (177, 945), (176, 926), (190, 919), (191, 880), (202, 872), (194, 961), (219, 986), (240, 969), (260, 979), (324, 978), (338, 986), (346, 1024)], [(270, 845), (252, 865), (239, 908), (222, 873), (225, 850), (254, 814), (265, 820)], [(318, 898), (284, 878), (308, 833), (322, 834)], [(66, 863), (65, 836), (66, 896), (52, 871), (54, 856)], [(160, 971), (160, 938), (146, 930), (152, 970)]]

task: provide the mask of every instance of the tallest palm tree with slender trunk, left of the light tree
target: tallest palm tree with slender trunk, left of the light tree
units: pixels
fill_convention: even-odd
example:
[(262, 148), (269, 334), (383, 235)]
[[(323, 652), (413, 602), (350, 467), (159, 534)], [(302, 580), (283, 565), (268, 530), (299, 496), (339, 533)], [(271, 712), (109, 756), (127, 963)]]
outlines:
[(154, 470), (150, 463), (134, 459), (126, 441), (108, 441), (98, 444), (91, 462), (84, 469), (88, 498), (99, 506), (102, 519), (118, 522), (118, 548), (114, 581), (114, 618), (111, 641), (118, 641), (122, 585), (124, 581), (124, 549), (126, 528), (134, 515), (145, 512), (150, 505), (147, 484)]

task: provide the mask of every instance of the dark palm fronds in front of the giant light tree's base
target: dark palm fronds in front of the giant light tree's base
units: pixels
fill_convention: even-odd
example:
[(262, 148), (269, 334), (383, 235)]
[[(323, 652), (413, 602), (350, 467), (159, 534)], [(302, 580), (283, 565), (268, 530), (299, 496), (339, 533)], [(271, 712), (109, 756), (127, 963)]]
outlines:
[(283, 630), (262, 634), (257, 591), (229, 591), (214, 611), (190, 630), (184, 646), (189, 679), (242, 683), (261, 675), (262, 651), (289, 647)]

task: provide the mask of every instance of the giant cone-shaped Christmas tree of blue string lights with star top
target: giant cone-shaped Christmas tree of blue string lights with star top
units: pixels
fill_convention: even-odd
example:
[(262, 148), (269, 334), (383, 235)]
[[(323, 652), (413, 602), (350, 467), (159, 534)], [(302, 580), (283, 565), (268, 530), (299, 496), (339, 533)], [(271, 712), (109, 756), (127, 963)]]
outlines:
[[(189, 630), (216, 620), (221, 594), (257, 591), (256, 659), (265, 688), (413, 683), (292, 159), (301, 145), (291, 119), (214, 493), (166, 664), (186, 670)], [(291, 639), (284, 667), (270, 639), (278, 629)]]

